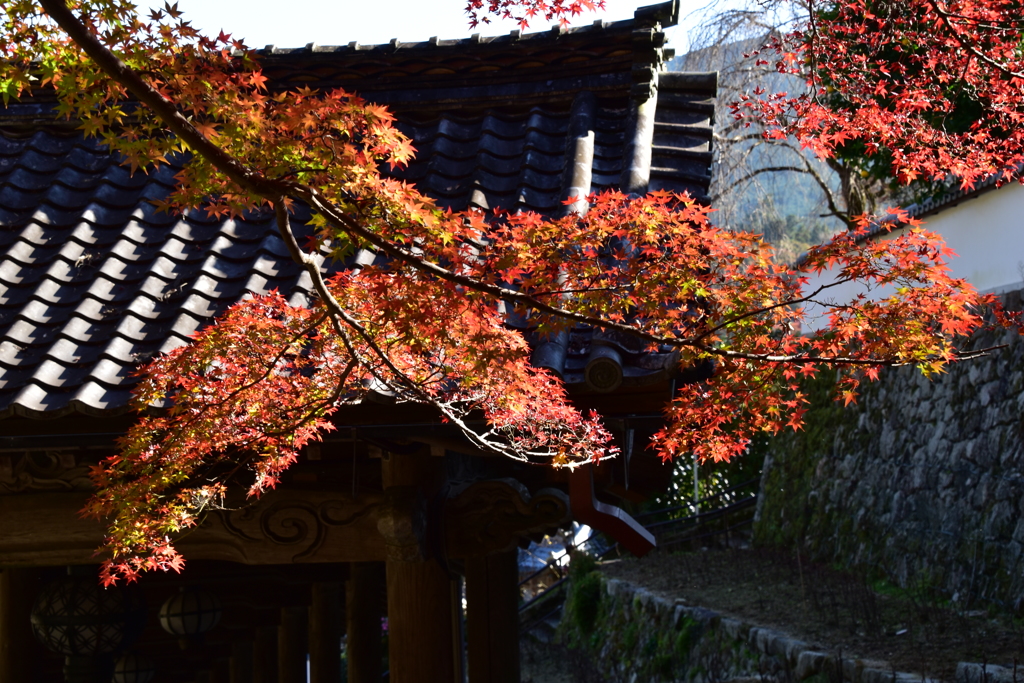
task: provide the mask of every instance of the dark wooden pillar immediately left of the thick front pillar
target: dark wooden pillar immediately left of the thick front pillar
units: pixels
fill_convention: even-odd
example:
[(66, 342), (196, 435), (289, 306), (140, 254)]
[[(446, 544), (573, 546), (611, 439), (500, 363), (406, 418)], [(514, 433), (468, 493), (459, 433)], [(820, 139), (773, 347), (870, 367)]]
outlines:
[(384, 563), (352, 562), (345, 584), (348, 683), (379, 683)]

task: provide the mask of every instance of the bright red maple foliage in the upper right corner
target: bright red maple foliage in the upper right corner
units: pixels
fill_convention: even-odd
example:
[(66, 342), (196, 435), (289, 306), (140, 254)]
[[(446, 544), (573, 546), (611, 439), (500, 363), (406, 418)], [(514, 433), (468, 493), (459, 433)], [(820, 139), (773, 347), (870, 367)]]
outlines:
[(863, 156), (907, 183), (970, 187), (1020, 177), (1024, 8), (1012, 0), (811, 0), (806, 27), (776, 37), (762, 63), (806, 93), (757, 92), (737, 117), (773, 124), (821, 157)]

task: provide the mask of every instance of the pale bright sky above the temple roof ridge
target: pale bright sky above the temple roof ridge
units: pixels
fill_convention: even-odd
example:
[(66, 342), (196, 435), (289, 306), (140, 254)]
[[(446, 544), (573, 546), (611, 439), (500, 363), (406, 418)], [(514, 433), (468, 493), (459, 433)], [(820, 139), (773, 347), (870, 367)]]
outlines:
[[(631, 18), (638, 6), (656, 1), (606, 0), (604, 11), (588, 12), (572, 26), (586, 26), (597, 18)], [(706, 2), (681, 0), (680, 13), (692, 16)], [(163, 3), (151, 0), (145, 4)], [(184, 18), (203, 33), (216, 35), (223, 30), (243, 38), (250, 47), (302, 47), (310, 42), (347, 45), (352, 41), (374, 45), (392, 38), (413, 43), (432, 36), (443, 40), (473, 33), (502, 35), (518, 28), (512, 22), (496, 22), (470, 30), (464, 5), (464, 0), (178, 0)], [(549, 23), (542, 19), (527, 31), (548, 28)], [(685, 48), (683, 29), (669, 30), (670, 44), (680, 52)]]

